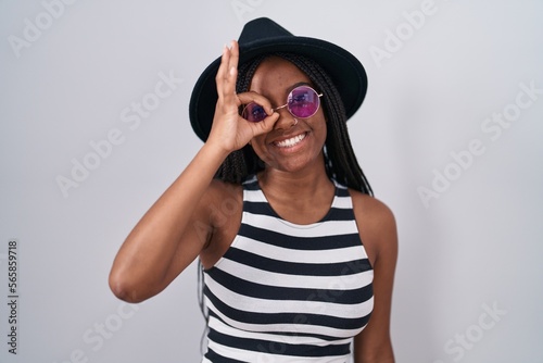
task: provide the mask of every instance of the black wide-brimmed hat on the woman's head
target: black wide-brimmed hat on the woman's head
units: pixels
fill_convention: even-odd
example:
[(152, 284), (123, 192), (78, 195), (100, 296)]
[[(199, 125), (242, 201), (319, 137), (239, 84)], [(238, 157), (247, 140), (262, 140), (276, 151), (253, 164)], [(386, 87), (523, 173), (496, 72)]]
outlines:
[[(298, 37), (267, 17), (260, 17), (245, 24), (239, 37), (239, 64), (261, 55), (276, 52), (289, 52), (315, 60), (331, 77), (340, 92), (350, 118), (362, 104), (367, 89), (367, 76), (364, 66), (350, 52), (331, 42)], [(215, 76), (220, 58), (211, 63), (198, 78), (189, 103), (189, 116), (192, 129), (203, 141), (210, 135), (217, 86)]]

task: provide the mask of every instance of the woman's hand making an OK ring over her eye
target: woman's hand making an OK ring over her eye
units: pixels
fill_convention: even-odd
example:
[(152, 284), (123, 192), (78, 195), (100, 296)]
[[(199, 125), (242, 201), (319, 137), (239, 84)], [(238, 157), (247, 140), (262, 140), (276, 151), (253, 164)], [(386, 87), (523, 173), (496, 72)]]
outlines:
[[(239, 46), (232, 40), (230, 48), (225, 46), (223, 49), (220, 65), (215, 77), (218, 100), (207, 138), (209, 143), (219, 146), (228, 153), (241, 149), (254, 136), (272, 130), (279, 118), (279, 114), (273, 112), (272, 104), (264, 96), (256, 92), (236, 93), (238, 61)], [(253, 123), (239, 115), (239, 107), (253, 101), (264, 107), (268, 114), (262, 122)]]

